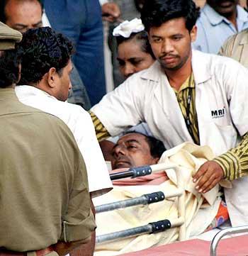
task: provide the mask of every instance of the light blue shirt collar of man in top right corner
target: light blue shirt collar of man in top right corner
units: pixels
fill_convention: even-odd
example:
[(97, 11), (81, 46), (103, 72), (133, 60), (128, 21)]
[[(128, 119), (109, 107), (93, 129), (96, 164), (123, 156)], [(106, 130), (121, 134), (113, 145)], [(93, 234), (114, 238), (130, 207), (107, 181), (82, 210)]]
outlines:
[[(225, 22), (228, 24), (231, 24), (230, 21), (227, 20), (227, 18), (225, 18), (224, 16), (220, 15), (217, 11), (215, 11), (211, 6), (209, 6), (208, 4), (205, 4), (205, 6), (203, 7), (202, 11), (205, 13), (205, 16), (208, 17), (209, 22), (213, 25), (216, 26), (218, 24), (220, 24), (221, 22)], [(237, 24), (238, 24), (238, 28), (239, 23), (245, 23), (248, 21), (248, 14), (247, 11), (244, 11), (244, 9), (237, 5)]]

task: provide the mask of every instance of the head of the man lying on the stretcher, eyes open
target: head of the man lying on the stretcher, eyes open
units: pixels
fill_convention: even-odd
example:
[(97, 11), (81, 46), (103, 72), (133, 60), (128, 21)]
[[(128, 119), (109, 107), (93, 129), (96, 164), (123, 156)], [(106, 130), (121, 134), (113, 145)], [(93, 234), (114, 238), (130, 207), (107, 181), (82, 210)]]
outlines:
[(129, 132), (112, 149), (112, 167), (130, 168), (155, 165), (165, 151), (162, 141), (142, 133)]

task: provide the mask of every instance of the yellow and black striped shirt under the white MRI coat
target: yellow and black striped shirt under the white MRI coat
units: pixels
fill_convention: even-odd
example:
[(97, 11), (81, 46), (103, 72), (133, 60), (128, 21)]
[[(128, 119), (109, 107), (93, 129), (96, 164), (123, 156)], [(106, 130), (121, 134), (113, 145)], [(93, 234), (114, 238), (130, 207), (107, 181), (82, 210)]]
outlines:
[[(176, 99), (181, 108), (181, 113), (184, 116), (184, 120), (187, 121), (189, 118), (190, 124), (188, 127), (191, 133), (191, 137), (193, 141), (200, 145), (200, 136), (198, 130), (198, 118), (196, 113), (196, 89), (195, 82), (193, 79), (193, 74), (191, 74), (186, 82), (181, 85), (178, 91), (175, 91)], [(191, 91), (191, 101), (189, 105), (189, 113), (187, 116), (187, 107), (188, 107), (188, 96)], [(101, 121), (97, 118), (97, 116), (90, 112), (92, 121), (94, 123), (96, 129), (96, 137), (98, 141), (104, 140), (110, 137), (108, 130), (103, 126)], [(241, 143), (237, 145), (236, 148), (232, 148), (227, 151), (225, 154), (222, 154), (218, 157), (215, 157), (215, 162), (222, 167), (224, 171), (224, 177), (227, 180), (238, 179), (239, 177), (243, 177), (248, 174), (248, 133), (246, 133)]]

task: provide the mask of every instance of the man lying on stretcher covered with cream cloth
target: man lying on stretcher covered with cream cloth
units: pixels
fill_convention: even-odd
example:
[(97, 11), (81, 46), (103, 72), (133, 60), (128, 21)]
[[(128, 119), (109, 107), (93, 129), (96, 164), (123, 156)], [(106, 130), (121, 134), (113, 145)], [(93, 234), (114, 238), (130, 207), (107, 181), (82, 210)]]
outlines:
[[(111, 172), (120, 172), (123, 168), (143, 165), (155, 165), (165, 162), (177, 165), (184, 179), (186, 190), (186, 236), (199, 235), (210, 227), (218, 226), (228, 218), (225, 204), (221, 202), (219, 188), (199, 194), (194, 189), (192, 175), (214, 155), (210, 148), (184, 143), (165, 151), (164, 145), (154, 138), (140, 133), (123, 135), (113, 147)], [(164, 153), (163, 153), (164, 152)], [(162, 154), (163, 153), (163, 154)], [(122, 169), (119, 169), (122, 168)], [(151, 174), (135, 179), (121, 179), (113, 182), (113, 191), (100, 196), (95, 205), (131, 199), (155, 191), (173, 192), (176, 189), (174, 169)], [(142, 185), (142, 186), (137, 186)], [(167, 199), (157, 204), (133, 206), (130, 208), (96, 214), (97, 235), (143, 226), (165, 218), (178, 218), (177, 199)], [(139, 235), (96, 245), (95, 255), (118, 255), (125, 252), (142, 250), (155, 245), (172, 243), (178, 238), (178, 228), (171, 228), (162, 233)]]

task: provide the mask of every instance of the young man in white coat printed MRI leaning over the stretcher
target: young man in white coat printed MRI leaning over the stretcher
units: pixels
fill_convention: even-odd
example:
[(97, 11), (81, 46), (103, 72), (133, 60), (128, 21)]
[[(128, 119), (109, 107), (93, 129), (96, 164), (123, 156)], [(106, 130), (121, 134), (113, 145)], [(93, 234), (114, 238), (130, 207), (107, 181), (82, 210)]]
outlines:
[[(147, 122), (167, 149), (185, 141), (215, 152), (194, 175), (207, 192), (232, 181), (225, 199), (232, 226), (248, 222), (248, 71), (229, 58), (192, 51), (199, 10), (193, 1), (147, 1), (142, 22), (157, 62), (91, 108), (98, 138)], [(97, 124), (97, 126), (96, 126)]]

